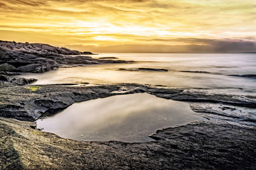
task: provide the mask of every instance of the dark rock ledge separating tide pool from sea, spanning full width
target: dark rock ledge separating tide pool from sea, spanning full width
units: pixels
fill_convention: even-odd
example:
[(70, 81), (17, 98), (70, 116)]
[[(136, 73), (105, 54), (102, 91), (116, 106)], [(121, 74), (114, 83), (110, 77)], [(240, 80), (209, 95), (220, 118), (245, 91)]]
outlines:
[[(43, 85), (41, 89), (30, 91), (27, 87), (1, 88), (0, 103), (13, 105), (14, 103), (23, 103), (25, 110), (32, 114), (31, 117), (37, 118), (38, 111), (40, 116), (44, 114), (55, 113), (60, 109), (66, 108), (75, 102), (87, 101), (95, 98), (105, 98), (108, 96), (120, 94), (148, 93), (157, 97), (174, 99), (177, 101), (191, 101), (204, 103), (228, 103), (233, 106), (247, 106), (256, 108), (256, 98), (238, 98), (238, 96), (214, 94), (210, 95), (203, 91), (189, 91), (181, 88), (162, 88), (161, 86), (145, 86), (140, 84), (113, 84), (113, 85), (95, 85), (95, 86), (65, 86), (65, 85)], [(4, 95), (6, 94), (6, 95)], [(12, 94), (12, 95), (8, 95)], [(17, 96), (18, 95), (18, 96)], [(19, 96), (26, 96), (20, 98)], [(8, 101), (8, 102), (7, 102)], [(1, 104), (0, 104), (1, 106)], [(222, 111), (222, 109), (220, 109)], [(6, 111), (6, 110), (4, 110)], [(0, 109), (1, 115), (1, 109)], [(19, 119), (22, 114), (16, 115)], [(31, 120), (31, 119), (30, 119)]]

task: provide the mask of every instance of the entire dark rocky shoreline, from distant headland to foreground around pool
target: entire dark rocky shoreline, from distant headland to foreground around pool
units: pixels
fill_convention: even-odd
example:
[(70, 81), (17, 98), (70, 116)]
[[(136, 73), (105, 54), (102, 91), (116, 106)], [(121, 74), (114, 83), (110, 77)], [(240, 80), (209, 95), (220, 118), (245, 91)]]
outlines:
[[(66, 64), (131, 63), (81, 54), (50, 45), (0, 42), (0, 169), (256, 169), (254, 94), (149, 84), (31, 86), (35, 79), (12, 76)], [(189, 102), (208, 121), (157, 130), (150, 136), (155, 141), (144, 143), (68, 140), (42, 132), (34, 123), (76, 102), (134, 93)]]

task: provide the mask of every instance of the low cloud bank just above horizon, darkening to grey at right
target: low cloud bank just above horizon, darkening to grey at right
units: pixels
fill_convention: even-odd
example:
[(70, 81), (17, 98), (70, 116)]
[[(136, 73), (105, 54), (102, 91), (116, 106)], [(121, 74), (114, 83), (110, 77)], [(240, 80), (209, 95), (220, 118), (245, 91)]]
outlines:
[[(186, 41), (186, 40), (184, 40)], [(189, 42), (191, 40), (188, 39)], [(198, 42), (207, 42), (205, 45), (198, 45)], [(97, 43), (97, 42), (95, 42)], [(256, 41), (245, 40), (200, 40), (189, 45), (164, 45), (164, 44), (126, 44), (126, 45), (105, 45), (95, 46), (85, 44), (65, 45), (77, 50), (90, 50), (93, 52), (256, 52)]]

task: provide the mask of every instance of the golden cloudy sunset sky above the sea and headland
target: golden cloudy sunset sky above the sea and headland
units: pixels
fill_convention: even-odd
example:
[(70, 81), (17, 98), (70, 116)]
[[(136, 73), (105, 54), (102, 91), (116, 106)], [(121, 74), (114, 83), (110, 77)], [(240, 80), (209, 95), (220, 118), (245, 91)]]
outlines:
[(92, 52), (256, 52), (256, 1), (5, 0), (0, 40)]

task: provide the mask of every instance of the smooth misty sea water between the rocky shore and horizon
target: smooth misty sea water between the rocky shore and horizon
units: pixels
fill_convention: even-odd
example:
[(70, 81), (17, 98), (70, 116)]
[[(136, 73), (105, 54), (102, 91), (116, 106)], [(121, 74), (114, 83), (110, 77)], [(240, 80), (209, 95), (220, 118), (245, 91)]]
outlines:
[[(22, 77), (36, 78), (38, 79), (36, 84), (138, 83), (213, 89), (225, 93), (256, 92), (256, 79), (228, 76), (256, 74), (256, 54), (105, 53), (92, 57), (118, 57), (119, 60), (133, 60), (135, 63), (60, 68), (43, 74), (22, 75)], [(169, 72), (119, 71), (120, 68), (139, 67), (168, 69)]]

